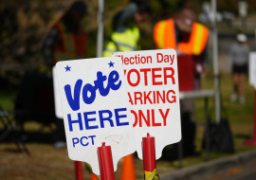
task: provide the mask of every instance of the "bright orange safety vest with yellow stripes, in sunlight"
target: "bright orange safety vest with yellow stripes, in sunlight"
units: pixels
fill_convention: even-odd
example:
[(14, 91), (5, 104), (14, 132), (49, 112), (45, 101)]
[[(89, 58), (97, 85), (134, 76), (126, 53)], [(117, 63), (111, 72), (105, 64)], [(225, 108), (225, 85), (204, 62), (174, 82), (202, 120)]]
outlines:
[(207, 45), (208, 37), (209, 29), (194, 22), (189, 42), (176, 45), (174, 19), (168, 19), (155, 24), (153, 38), (156, 48), (174, 48), (181, 53), (200, 55)]

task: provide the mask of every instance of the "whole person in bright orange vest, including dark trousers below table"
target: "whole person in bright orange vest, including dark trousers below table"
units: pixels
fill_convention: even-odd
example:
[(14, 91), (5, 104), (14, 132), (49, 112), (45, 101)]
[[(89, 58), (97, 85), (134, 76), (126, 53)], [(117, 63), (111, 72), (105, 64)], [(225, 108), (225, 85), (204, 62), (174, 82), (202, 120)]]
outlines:
[[(199, 90), (201, 85), (200, 74), (205, 69), (203, 63), (207, 55), (209, 29), (197, 23), (195, 19), (196, 15), (192, 9), (192, 4), (190, 4), (190, 1), (185, 1), (173, 18), (155, 24), (153, 38), (156, 48), (174, 48), (177, 52), (178, 63), (182, 62), (186, 65), (183, 61), (187, 61), (190, 64), (189, 68), (192, 69), (192, 75), (187, 75), (186, 72), (186, 76), (192, 77), (188, 77), (186, 80), (191, 78), (192, 90)], [(192, 63), (189, 60), (192, 60)], [(188, 68), (188, 65), (186, 68)], [(180, 91), (182, 91), (181, 88)], [(196, 130), (194, 99), (180, 100), (180, 111), (183, 130), (183, 153), (192, 155), (195, 153), (194, 138)]]

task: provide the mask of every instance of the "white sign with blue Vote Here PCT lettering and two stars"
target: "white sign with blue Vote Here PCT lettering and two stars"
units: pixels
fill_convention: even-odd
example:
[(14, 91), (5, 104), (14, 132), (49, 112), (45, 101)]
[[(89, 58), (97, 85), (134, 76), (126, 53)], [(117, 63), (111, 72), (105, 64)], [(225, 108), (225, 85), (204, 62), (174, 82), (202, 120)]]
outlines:
[(70, 159), (100, 174), (97, 148), (105, 142), (116, 171), (119, 158), (136, 151), (119, 58), (59, 62), (57, 77)]

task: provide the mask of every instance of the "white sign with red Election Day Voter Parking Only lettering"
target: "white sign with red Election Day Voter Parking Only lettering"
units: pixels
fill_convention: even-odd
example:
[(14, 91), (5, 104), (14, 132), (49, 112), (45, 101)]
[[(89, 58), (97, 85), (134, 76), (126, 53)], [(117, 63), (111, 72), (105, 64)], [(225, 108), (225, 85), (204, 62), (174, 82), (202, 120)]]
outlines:
[(128, 98), (142, 159), (141, 140), (155, 136), (155, 158), (181, 139), (177, 58), (174, 49), (117, 52), (128, 82)]

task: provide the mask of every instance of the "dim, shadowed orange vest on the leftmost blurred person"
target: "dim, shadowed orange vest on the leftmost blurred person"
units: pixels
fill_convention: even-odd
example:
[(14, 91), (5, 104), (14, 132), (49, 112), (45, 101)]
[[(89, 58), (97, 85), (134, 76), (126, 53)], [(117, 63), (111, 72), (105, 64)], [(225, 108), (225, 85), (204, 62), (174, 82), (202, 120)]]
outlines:
[(82, 29), (78, 33), (68, 32), (63, 23), (57, 23), (61, 41), (55, 45), (54, 56), (55, 63), (65, 60), (74, 60), (84, 58), (86, 52), (86, 38)]

